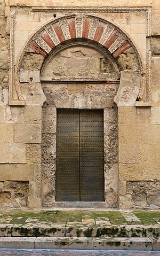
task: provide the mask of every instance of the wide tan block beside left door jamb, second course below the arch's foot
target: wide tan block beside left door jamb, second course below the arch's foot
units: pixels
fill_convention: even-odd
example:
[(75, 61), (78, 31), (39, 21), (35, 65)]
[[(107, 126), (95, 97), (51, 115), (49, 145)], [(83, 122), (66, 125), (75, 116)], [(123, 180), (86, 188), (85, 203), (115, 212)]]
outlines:
[(14, 125), (15, 143), (41, 143), (41, 125), (26, 123)]

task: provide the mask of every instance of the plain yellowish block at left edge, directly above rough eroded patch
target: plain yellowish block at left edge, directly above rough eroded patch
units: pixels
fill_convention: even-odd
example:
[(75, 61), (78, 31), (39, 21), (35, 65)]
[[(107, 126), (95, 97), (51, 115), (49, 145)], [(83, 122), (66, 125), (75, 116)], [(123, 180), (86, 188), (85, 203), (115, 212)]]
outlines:
[(0, 165), (1, 181), (33, 181), (34, 165), (29, 164), (1, 164)]

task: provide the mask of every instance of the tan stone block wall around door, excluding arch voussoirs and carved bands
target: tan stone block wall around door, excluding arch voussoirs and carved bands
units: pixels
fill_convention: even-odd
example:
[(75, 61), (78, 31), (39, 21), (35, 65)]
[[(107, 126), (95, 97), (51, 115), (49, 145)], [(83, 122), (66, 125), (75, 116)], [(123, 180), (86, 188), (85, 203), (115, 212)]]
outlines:
[[(142, 100), (136, 101), (141, 75), (137, 56), (131, 49), (116, 59), (121, 70), (119, 88), (118, 83), (73, 83), (61, 84), (59, 89), (56, 84), (41, 84), (39, 69), (43, 57), (28, 49), (20, 71), (26, 105), (13, 106), (9, 105), (10, 13), (17, 12), (14, 64), (28, 36), (54, 16), (68, 15), (64, 10), (33, 12), (31, 7), (34, 6), (43, 7), (44, 1), (0, 0), (0, 205), (52, 206), (55, 196), (56, 107), (102, 107), (106, 127), (109, 127), (109, 131), (105, 131), (105, 156), (110, 159), (105, 162), (106, 206), (117, 207), (117, 201), (123, 209), (149, 208), (151, 204), (160, 206), (159, 0), (45, 1), (45, 6), (49, 7), (150, 6), (151, 33), (147, 37), (144, 12), (97, 11), (94, 14), (115, 22), (133, 38), (144, 65), (146, 51), (151, 51), (151, 101), (146, 100), (146, 90)], [(73, 64), (74, 72), (71, 69)], [(72, 51), (59, 51), (53, 56), (43, 75), (52, 79), (70, 79), (75, 74), (78, 77), (85, 73), (92, 78), (117, 80), (118, 74), (113, 70), (102, 53), (78, 45)]]

